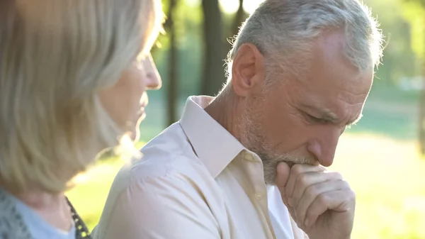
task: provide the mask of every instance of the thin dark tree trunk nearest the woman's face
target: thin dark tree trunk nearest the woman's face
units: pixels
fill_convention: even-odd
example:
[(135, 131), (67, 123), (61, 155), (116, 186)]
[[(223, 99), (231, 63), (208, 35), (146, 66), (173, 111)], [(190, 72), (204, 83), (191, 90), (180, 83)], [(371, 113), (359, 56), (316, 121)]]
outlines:
[(167, 116), (168, 125), (171, 125), (177, 121), (176, 111), (177, 103), (179, 101), (178, 93), (178, 50), (176, 47), (176, 30), (174, 29), (174, 9), (176, 7), (177, 0), (169, 0), (169, 11), (168, 18), (166, 21), (167, 35), (170, 38), (170, 49), (169, 49), (169, 87), (167, 91)]

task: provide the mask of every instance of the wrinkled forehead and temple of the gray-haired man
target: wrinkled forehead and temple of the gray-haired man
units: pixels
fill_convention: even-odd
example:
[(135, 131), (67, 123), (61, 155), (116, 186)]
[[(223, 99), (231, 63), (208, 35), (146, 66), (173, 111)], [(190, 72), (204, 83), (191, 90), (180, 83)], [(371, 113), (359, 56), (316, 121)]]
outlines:
[(336, 35), (314, 47), (309, 72), (298, 82), (299, 100), (338, 118), (349, 118), (361, 113), (372, 86), (373, 67), (359, 70), (345, 57), (342, 44)]

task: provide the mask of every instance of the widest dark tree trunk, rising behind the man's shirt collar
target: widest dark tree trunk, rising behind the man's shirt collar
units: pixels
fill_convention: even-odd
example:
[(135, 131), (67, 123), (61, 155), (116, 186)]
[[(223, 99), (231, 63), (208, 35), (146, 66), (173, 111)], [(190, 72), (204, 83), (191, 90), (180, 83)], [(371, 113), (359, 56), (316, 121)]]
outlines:
[(222, 16), (218, 0), (203, 0), (205, 38), (205, 65), (201, 94), (213, 96), (225, 82), (225, 68), (222, 48)]

